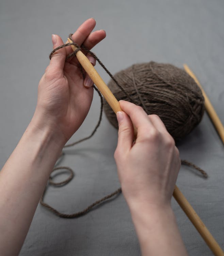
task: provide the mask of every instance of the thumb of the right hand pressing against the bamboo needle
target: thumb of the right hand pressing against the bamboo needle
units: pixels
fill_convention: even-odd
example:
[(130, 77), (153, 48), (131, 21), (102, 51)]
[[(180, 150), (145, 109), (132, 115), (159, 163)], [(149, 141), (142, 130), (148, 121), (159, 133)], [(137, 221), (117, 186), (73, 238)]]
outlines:
[(129, 151), (133, 143), (133, 125), (129, 116), (123, 112), (116, 113), (118, 121), (118, 141), (117, 149), (122, 154)]

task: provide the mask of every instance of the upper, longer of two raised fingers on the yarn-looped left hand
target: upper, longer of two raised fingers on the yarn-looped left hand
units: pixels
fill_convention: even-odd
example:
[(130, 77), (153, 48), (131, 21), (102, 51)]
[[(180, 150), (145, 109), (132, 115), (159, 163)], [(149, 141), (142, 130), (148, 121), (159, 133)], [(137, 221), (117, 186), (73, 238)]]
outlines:
[[(93, 18), (87, 19), (71, 36), (72, 40), (78, 45), (81, 45), (86, 40), (88, 35), (92, 32), (92, 30), (95, 28), (95, 26), (96, 26), (95, 19)], [(66, 55), (73, 52), (73, 49), (71, 47), (66, 47), (66, 48), (67, 48)]]

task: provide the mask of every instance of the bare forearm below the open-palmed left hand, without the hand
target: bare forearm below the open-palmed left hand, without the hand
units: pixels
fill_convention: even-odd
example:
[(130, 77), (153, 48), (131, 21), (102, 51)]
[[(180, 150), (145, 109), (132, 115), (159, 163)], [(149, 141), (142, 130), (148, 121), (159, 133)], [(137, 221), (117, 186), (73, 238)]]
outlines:
[(32, 120), (0, 172), (0, 255), (17, 255), (62, 150), (49, 127)]

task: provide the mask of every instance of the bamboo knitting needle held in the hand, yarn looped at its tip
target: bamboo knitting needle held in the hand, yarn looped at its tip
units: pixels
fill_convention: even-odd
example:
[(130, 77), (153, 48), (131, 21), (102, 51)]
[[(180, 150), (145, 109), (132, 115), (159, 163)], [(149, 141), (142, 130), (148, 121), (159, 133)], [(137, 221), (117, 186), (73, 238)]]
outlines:
[[(68, 38), (69, 43), (72, 43), (72, 41)], [(77, 49), (74, 45), (71, 45), (73, 51)], [(111, 106), (113, 111), (116, 113), (117, 111), (122, 111), (121, 107), (119, 106), (119, 102), (116, 100), (114, 95), (112, 94), (111, 90), (107, 87), (107, 85), (103, 82), (100, 75), (97, 73), (95, 68), (93, 67), (92, 63), (87, 59), (87, 57), (81, 52), (78, 51), (76, 53), (76, 57), (79, 60), (80, 64), (86, 71), (86, 73), (91, 77), (94, 84), (97, 86), (99, 91), (102, 93), (103, 97), (105, 97), (108, 104)], [(183, 196), (183, 194), (180, 192), (179, 188), (175, 186), (174, 198), (180, 205), (180, 207), (183, 209), (183, 211), (186, 213), (190, 221), (193, 223), (195, 228), (198, 230), (198, 232), (201, 234), (205, 242), (208, 244), (212, 252), (215, 256), (224, 256), (224, 253), (218, 243), (215, 241), (215, 239), (212, 237), (211, 233), (208, 231), (204, 223), (201, 221), (199, 216), (196, 214), (194, 209), (191, 207), (190, 203), (187, 201), (187, 199)]]

